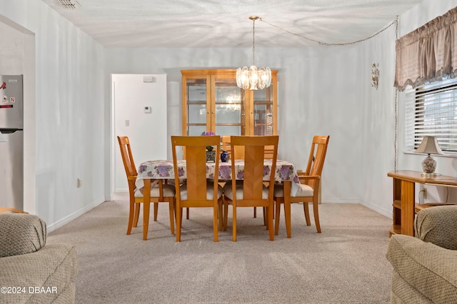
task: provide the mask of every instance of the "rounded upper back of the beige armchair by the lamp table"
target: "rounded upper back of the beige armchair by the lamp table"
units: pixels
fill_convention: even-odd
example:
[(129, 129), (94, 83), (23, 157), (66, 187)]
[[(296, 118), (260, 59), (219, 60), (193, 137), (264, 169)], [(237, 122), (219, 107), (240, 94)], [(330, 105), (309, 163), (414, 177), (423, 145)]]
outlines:
[(436, 206), (418, 212), (416, 237), (443, 248), (457, 249), (457, 206)]

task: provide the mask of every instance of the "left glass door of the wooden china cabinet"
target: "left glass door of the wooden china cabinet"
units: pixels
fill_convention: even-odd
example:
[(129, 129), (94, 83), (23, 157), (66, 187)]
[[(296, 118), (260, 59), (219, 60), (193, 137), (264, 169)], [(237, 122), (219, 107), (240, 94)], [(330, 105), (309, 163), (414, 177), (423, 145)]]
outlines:
[(187, 79), (187, 135), (206, 132), (206, 78)]

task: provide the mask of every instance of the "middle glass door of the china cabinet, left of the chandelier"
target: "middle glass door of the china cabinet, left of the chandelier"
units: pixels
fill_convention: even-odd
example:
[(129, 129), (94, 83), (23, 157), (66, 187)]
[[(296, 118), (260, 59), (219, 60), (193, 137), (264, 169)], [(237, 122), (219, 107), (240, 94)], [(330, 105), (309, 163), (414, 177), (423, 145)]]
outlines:
[(214, 76), (214, 117), (211, 128), (218, 135), (246, 135), (245, 92), (233, 76)]

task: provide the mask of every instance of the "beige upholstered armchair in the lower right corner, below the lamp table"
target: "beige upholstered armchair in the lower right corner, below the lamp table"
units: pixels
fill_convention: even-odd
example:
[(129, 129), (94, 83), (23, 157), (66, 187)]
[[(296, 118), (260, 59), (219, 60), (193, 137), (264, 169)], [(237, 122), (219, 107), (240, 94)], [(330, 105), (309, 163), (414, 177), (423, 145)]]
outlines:
[(457, 303), (457, 206), (423, 209), (414, 230), (388, 243), (391, 303)]

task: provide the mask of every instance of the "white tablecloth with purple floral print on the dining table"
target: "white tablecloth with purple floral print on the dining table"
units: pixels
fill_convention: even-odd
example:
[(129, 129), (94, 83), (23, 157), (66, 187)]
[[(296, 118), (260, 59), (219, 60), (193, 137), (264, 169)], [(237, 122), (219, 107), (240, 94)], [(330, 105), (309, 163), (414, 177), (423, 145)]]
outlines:
[[(271, 172), (271, 159), (264, 161), (263, 177), (264, 181), (268, 181)], [(236, 160), (236, 179), (242, 180), (244, 173), (244, 161)], [(186, 161), (178, 161), (179, 178), (186, 178)], [(216, 171), (216, 163), (206, 163), (206, 177), (214, 178)], [(219, 162), (219, 181), (231, 180), (231, 161), (227, 163)], [(145, 178), (154, 179), (174, 179), (173, 161), (158, 160), (145, 161), (141, 163), (136, 177), (136, 187), (143, 188)], [(296, 193), (300, 185), (298, 175), (293, 163), (288, 161), (276, 161), (275, 181), (291, 181), (291, 192)]]

